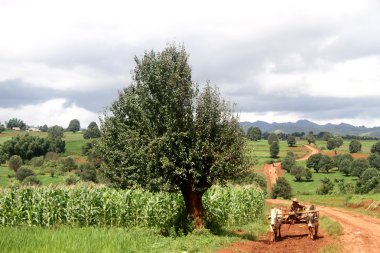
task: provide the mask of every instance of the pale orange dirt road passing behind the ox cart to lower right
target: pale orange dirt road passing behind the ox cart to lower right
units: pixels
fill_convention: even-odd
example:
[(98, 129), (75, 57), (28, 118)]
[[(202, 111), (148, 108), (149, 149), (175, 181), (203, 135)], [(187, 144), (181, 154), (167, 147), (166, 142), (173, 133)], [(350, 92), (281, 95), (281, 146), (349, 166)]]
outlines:
[[(270, 199), (271, 204), (290, 204), (289, 201)], [(343, 226), (343, 235), (339, 242), (344, 252), (375, 253), (380, 252), (380, 219), (352, 213), (346, 210), (317, 206), (321, 215), (328, 216)]]

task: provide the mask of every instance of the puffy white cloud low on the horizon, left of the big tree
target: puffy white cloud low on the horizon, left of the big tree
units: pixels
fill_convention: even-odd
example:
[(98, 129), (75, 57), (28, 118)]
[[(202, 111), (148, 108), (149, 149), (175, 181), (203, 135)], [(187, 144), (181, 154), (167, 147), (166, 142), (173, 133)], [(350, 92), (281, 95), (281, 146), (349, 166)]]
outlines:
[(65, 99), (53, 99), (42, 104), (27, 105), (20, 108), (0, 108), (0, 118), (22, 119), (31, 126), (59, 125), (66, 128), (70, 120), (78, 119), (81, 127), (86, 128), (91, 121), (98, 122), (98, 114), (71, 104), (65, 106)]

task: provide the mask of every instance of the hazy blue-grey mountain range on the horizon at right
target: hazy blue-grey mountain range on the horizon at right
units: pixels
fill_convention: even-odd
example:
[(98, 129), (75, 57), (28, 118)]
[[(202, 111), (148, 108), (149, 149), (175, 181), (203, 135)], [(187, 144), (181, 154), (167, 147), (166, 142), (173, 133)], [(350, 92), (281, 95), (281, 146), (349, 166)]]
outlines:
[(251, 126), (258, 127), (262, 132), (283, 132), (283, 133), (294, 133), (294, 132), (305, 132), (306, 134), (313, 131), (314, 134), (320, 132), (330, 132), (336, 135), (358, 135), (358, 136), (370, 136), (370, 137), (380, 137), (380, 127), (367, 128), (365, 126), (353, 126), (346, 123), (341, 123), (339, 125), (328, 123), (326, 125), (318, 125), (309, 120), (298, 120), (297, 122), (286, 122), (286, 123), (267, 123), (264, 121), (256, 122), (240, 122), (244, 131)]

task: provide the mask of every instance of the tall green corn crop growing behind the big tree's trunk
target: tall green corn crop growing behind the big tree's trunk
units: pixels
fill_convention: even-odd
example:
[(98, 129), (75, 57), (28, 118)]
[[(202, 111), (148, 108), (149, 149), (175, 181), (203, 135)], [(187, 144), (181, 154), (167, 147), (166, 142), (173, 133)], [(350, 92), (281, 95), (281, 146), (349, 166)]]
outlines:
[[(203, 197), (209, 220), (221, 225), (256, 219), (264, 194), (254, 187), (213, 187)], [(4, 189), (0, 226), (172, 226), (185, 205), (177, 193), (109, 188)]]

